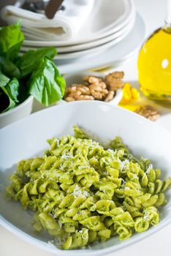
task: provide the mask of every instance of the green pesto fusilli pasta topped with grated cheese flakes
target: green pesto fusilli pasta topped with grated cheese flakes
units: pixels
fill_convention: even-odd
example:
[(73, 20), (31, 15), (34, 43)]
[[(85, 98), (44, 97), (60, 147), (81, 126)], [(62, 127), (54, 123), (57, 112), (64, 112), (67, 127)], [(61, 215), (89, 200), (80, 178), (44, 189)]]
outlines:
[(18, 162), (7, 195), (36, 211), (35, 230), (47, 231), (62, 249), (134, 233), (159, 223), (171, 178), (160, 179), (148, 159), (137, 160), (121, 138), (103, 147), (79, 128), (75, 136), (47, 140), (42, 157)]

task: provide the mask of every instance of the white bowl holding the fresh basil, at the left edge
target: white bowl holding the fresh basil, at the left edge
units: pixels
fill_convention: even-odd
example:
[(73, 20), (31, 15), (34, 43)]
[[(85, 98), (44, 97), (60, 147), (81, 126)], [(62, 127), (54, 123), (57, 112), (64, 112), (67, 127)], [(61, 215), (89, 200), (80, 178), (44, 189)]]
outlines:
[(5, 127), (7, 124), (11, 124), (14, 121), (18, 121), (20, 118), (26, 117), (31, 113), (33, 105), (33, 96), (29, 96), (24, 102), (18, 105), (12, 110), (0, 113), (0, 128)]

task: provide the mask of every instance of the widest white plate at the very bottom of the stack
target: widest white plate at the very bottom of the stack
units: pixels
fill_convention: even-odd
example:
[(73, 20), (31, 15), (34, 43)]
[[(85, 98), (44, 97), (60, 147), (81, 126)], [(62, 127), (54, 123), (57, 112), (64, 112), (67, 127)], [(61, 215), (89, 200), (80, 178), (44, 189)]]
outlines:
[(86, 55), (87, 59), (56, 60), (56, 64), (63, 74), (88, 69), (107, 68), (132, 57), (140, 49), (144, 39), (145, 23), (141, 16), (137, 14), (132, 31), (117, 45), (113, 45), (96, 56), (93, 56), (92, 53), (88, 56)]

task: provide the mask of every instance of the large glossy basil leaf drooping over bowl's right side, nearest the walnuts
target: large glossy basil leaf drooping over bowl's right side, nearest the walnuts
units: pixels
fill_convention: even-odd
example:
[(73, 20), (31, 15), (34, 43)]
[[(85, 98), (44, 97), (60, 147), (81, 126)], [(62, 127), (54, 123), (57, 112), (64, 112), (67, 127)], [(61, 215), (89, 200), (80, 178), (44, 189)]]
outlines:
[(29, 80), (29, 93), (42, 105), (48, 106), (64, 96), (65, 80), (61, 77), (56, 64), (44, 57)]

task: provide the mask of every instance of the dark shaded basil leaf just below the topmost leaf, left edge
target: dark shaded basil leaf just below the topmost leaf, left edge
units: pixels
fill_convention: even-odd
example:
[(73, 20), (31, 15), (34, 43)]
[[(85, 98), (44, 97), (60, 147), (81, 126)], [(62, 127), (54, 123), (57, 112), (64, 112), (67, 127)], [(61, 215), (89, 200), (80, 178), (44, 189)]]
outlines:
[(9, 59), (4, 59), (0, 56), (0, 69), (4, 75), (7, 75), (8, 78), (20, 78), (20, 70), (18, 69), (12, 61)]

